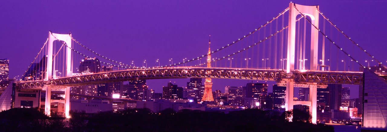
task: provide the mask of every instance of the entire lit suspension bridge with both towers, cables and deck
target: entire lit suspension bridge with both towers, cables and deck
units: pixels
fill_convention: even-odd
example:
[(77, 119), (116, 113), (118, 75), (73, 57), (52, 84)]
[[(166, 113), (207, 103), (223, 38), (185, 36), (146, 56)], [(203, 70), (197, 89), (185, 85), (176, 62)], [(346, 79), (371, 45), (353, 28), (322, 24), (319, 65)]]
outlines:
[[(181, 62), (154, 67), (135, 66), (91, 50), (72, 37), (51, 31), (26, 73), (17, 81), (17, 89), (44, 89), (45, 113), (50, 115), (51, 91), (64, 91), (65, 116), (69, 117), (70, 87), (122, 82), (134, 79), (247, 79), (275, 81), (286, 87), (286, 110), (293, 105), (308, 105), (316, 123), (317, 88), (327, 84), (363, 85), (363, 68), (370, 63), (386, 68), (381, 61), (339, 29), (320, 11), (318, 5), (289, 3), (289, 7), (251, 32), (236, 37), (208, 53)], [(99, 58), (101, 67), (114, 67), (96, 73), (79, 73), (77, 63), (84, 58)], [(202, 61), (203, 58), (207, 58)], [(127, 63), (125, 63), (127, 62)], [(367, 65), (368, 64), (368, 65)], [(141, 64), (140, 64), (141, 65)], [(100, 67), (98, 67), (99, 69)], [(375, 71), (373, 71), (375, 72)], [(384, 76), (384, 71), (375, 72)], [(210, 83), (209, 80), (208, 83)], [(294, 87), (309, 87), (310, 101), (294, 101)], [(211, 87), (210, 87), (211, 88)]]

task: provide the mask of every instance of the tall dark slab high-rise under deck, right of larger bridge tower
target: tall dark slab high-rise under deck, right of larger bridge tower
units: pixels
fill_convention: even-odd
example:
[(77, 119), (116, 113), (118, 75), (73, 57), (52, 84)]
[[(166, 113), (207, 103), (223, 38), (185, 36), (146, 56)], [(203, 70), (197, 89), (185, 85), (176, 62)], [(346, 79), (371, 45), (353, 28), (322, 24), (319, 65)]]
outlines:
[(330, 110), (340, 110), (341, 84), (328, 84)]

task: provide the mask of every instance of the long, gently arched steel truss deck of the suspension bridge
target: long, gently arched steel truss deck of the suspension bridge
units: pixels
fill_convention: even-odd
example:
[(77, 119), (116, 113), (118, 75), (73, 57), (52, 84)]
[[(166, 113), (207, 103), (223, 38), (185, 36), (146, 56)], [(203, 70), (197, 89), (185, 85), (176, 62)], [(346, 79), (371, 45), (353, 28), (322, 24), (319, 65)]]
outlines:
[(213, 78), (246, 79), (259, 81), (293, 80), (296, 84), (362, 84), (363, 72), (294, 70), (286, 73), (282, 69), (248, 69), (219, 67), (164, 67), (152, 69), (128, 69), (93, 74), (61, 77), (50, 81), (19, 81), (18, 89), (51, 87), (74, 87), (109, 82), (129, 81), (134, 79), (179, 79), (179, 78)]

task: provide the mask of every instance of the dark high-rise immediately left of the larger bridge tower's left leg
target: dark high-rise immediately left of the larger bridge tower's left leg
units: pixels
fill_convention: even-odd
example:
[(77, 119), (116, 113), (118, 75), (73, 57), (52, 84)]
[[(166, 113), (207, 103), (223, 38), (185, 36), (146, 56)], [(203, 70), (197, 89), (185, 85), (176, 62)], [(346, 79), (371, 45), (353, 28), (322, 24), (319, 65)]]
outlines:
[(286, 87), (273, 85), (273, 109), (285, 110)]

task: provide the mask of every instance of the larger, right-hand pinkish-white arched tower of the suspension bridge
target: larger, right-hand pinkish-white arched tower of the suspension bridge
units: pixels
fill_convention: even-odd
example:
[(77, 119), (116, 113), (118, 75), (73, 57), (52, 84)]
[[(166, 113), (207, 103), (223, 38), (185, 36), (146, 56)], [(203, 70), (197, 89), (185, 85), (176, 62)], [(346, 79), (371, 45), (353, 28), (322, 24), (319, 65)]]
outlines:
[[(319, 27), (319, 6), (306, 6), (289, 3), (289, 29), (288, 29), (288, 57), (286, 63), (286, 73), (295, 70), (295, 41), (296, 41), (296, 17), (297, 15), (306, 15), (310, 17), (313, 25)], [(301, 12), (301, 13), (300, 13)], [(311, 28), (310, 42), (310, 70), (317, 70), (318, 67), (318, 40), (319, 32), (315, 27)], [(300, 69), (301, 70), (301, 69)], [(293, 101), (294, 80), (286, 81), (286, 103), (285, 109), (292, 110), (293, 105), (309, 105), (309, 111), (312, 112), (312, 123), (317, 122), (317, 84), (310, 85), (310, 101)]]

